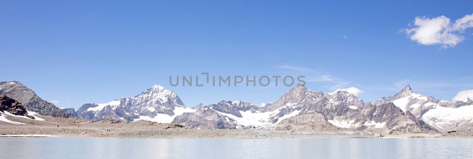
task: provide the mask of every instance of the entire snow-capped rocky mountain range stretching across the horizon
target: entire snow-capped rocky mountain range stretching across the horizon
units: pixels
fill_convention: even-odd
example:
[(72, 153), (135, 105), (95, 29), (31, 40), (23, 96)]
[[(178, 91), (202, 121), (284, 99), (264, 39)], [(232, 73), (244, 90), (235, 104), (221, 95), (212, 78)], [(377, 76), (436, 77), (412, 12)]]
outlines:
[[(0, 94), (6, 92), (21, 103), (18, 94), (30, 89), (12, 82), (1, 82)], [(9, 91), (2, 91), (4, 88)], [(35, 105), (25, 108), (34, 108), (42, 115), (59, 114), (55, 108), (41, 109)], [(86, 103), (77, 111), (64, 108), (61, 112), (93, 120), (172, 122), (190, 129), (359, 130), (397, 134), (471, 131), (473, 126), (473, 100), (438, 100), (413, 93), (409, 85), (392, 97), (381, 97), (374, 102), (364, 102), (347, 91), (323, 93), (298, 84), (265, 106), (222, 100), (193, 108), (184, 106), (174, 92), (155, 85), (134, 97), (121, 97), (104, 104)]]

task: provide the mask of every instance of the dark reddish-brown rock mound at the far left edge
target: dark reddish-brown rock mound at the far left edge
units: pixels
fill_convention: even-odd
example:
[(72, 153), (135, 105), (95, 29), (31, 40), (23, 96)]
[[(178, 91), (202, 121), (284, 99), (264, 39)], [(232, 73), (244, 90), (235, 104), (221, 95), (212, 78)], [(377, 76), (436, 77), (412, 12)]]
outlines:
[(27, 116), (29, 118), (35, 119), (35, 117), (28, 115), (26, 109), (20, 103), (18, 103), (18, 101), (5, 95), (0, 95), (0, 112), (5, 111), (13, 115)]

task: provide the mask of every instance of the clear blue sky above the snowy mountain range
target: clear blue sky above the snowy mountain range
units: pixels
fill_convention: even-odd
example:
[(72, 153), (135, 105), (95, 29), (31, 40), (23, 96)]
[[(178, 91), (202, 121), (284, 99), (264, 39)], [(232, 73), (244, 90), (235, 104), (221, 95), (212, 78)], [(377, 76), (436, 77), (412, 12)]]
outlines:
[[(107, 103), (159, 84), (184, 104), (276, 101), (291, 87), (171, 87), (169, 76), (306, 76), (369, 102), (410, 84), (450, 100), (473, 89), (473, 29), (413, 38), (416, 17), (472, 15), (473, 1), (3, 1), (0, 81), (59, 107)], [(425, 18), (424, 18), (425, 19)], [(451, 29), (450, 29), (451, 30)], [(450, 34), (448, 32), (448, 34)], [(422, 34), (419, 34), (422, 35)], [(416, 36), (418, 37), (418, 36)], [(438, 40), (438, 39), (437, 39)]]

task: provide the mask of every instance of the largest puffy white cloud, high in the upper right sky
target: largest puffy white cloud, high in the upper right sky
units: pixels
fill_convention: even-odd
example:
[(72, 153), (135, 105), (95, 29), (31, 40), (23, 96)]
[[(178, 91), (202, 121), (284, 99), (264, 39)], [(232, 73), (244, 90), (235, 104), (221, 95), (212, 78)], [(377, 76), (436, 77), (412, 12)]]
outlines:
[(414, 26), (403, 31), (411, 38), (423, 45), (440, 44), (442, 47), (454, 47), (465, 37), (461, 35), (466, 28), (473, 27), (473, 14), (451, 22), (450, 18), (439, 16), (436, 18), (416, 17)]

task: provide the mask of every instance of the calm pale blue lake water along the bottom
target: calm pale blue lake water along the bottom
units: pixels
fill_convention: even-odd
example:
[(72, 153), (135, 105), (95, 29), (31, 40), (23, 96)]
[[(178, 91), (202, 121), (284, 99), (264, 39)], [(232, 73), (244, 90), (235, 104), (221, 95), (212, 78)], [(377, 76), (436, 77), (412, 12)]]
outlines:
[(0, 158), (472, 159), (473, 139), (120, 139), (0, 137)]

